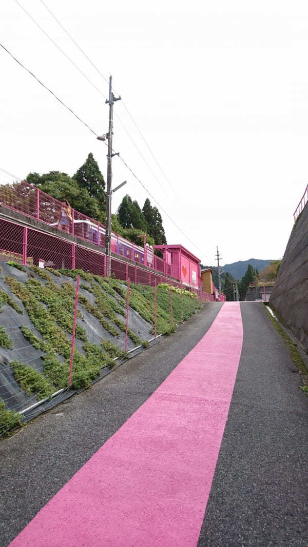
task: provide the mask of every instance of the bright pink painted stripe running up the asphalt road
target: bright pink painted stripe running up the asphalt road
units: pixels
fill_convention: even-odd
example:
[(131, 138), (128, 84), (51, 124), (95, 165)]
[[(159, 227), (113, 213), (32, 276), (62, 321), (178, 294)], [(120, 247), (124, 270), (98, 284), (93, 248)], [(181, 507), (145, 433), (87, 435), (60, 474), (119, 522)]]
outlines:
[(196, 546), (241, 356), (238, 302), (12, 547)]

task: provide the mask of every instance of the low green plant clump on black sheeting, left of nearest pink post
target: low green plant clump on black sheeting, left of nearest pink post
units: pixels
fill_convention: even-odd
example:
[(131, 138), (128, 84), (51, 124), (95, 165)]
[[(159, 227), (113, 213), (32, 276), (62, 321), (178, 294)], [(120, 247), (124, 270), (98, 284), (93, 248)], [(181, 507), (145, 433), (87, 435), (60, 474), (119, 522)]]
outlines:
[(18, 361), (12, 361), (11, 366), (14, 369), (15, 380), (29, 397), (32, 393), (35, 393), (38, 399), (45, 399), (52, 395), (54, 391), (52, 385), (38, 370)]

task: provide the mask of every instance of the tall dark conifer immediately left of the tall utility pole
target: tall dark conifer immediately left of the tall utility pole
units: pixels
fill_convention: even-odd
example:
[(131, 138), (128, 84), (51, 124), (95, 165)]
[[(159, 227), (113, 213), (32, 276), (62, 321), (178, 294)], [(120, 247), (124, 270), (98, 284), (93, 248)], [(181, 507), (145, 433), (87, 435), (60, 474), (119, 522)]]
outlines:
[(79, 167), (73, 176), (80, 188), (85, 188), (91, 197), (97, 200), (97, 205), (102, 213), (106, 212), (106, 195), (105, 181), (100, 172), (98, 162), (95, 161), (92, 152), (88, 154), (88, 158), (84, 164)]

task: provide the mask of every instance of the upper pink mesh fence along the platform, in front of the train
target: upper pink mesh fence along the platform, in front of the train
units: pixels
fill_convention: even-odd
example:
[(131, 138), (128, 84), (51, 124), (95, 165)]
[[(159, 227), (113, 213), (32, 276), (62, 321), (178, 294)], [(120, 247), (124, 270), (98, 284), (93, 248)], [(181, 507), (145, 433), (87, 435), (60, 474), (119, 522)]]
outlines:
[[(28, 217), (41, 220), (49, 226), (54, 226), (54, 228), (58, 226), (61, 202), (26, 181), (1, 185), (0, 203)], [(84, 241), (105, 248), (105, 226), (75, 209), (72, 209), (71, 213), (73, 223), (70, 233)], [(164, 276), (180, 277), (178, 267), (174, 264), (166, 264), (163, 259), (154, 254), (151, 247), (140, 247), (115, 232), (111, 234), (111, 251), (133, 260), (136, 264), (149, 266)]]

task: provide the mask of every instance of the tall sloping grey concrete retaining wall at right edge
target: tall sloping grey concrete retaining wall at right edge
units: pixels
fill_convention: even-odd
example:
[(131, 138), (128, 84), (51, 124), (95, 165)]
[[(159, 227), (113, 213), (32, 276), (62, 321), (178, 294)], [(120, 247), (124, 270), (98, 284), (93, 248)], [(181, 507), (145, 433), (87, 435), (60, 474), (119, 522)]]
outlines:
[(308, 353), (308, 205), (293, 226), (270, 305)]

